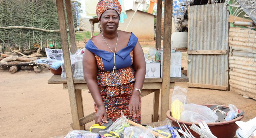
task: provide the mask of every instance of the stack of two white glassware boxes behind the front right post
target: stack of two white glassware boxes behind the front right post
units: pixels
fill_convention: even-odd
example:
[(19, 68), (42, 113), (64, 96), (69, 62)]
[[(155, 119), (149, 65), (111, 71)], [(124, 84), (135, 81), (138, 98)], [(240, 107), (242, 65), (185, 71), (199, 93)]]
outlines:
[[(163, 76), (163, 54), (161, 54), (161, 77)], [(171, 52), (170, 77), (181, 77), (181, 52)]]

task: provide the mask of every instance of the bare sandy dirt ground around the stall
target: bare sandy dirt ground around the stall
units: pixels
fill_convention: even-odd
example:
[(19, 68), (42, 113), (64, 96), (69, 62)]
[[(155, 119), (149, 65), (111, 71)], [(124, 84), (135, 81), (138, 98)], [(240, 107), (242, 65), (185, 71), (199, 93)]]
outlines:
[[(144, 51), (154, 47), (154, 43), (143, 43)], [(186, 53), (183, 53), (182, 64), (186, 66)], [(0, 70), (0, 137), (38, 137), (47, 138), (65, 135), (71, 129), (72, 122), (68, 91), (61, 84), (48, 85), (52, 73), (44, 70), (18, 71), (11, 74)], [(187, 87), (186, 82), (175, 83)], [(88, 90), (83, 90), (84, 115), (94, 112), (93, 99)], [(172, 89), (170, 90), (170, 99)], [(243, 121), (256, 116), (256, 101), (245, 99), (231, 91), (188, 88), (190, 103), (234, 104), (245, 111)], [(142, 123), (151, 122), (153, 111), (153, 94), (142, 98)], [(86, 124), (88, 129), (93, 122)]]

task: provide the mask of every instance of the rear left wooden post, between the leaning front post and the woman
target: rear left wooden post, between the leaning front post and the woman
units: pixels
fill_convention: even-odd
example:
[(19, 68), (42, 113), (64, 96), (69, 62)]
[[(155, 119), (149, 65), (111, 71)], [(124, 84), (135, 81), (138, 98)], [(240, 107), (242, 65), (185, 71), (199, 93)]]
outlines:
[(69, 37), (70, 37), (71, 53), (76, 53), (76, 34), (75, 34), (75, 30), (74, 30), (72, 5), (71, 5), (70, 0), (65, 0), (65, 2), (66, 2), (68, 24), (69, 24)]

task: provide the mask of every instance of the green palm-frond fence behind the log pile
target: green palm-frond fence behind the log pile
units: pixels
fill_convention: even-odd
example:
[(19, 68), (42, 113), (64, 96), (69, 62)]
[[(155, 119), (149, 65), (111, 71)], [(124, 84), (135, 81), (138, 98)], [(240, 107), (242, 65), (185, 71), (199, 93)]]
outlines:
[[(76, 26), (76, 21), (74, 25)], [(56, 2), (55, 0), (0, 0), (0, 26), (59, 29)], [(68, 28), (67, 22), (66, 26)], [(46, 46), (48, 39), (54, 40), (56, 46), (61, 45), (59, 32), (0, 29), (0, 45), (4, 45), (7, 51), (11, 48), (32, 49), (34, 44), (43, 47)]]

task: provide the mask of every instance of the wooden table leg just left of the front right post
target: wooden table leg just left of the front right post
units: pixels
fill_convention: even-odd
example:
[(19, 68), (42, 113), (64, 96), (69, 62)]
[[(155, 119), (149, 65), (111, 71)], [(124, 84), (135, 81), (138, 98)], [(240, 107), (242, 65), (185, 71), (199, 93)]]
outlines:
[(158, 122), (159, 96), (160, 96), (160, 89), (154, 92), (152, 122)]

